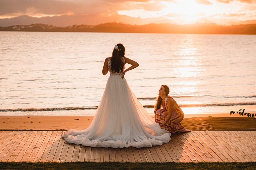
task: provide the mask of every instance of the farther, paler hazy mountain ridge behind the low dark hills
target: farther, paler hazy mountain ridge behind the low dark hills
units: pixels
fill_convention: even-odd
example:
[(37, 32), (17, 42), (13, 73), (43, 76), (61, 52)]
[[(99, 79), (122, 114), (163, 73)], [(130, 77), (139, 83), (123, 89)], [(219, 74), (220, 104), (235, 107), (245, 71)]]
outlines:
[[(158, 18), (146, 18), (130, 17), (125, 15), (113, 15), (113, 16), (98, 16), (98, 15), (61, 15), (61, 16), (45, 16), (41, 18), (22, 15), (13, 18), (0, 19), (0, 26), (11, 26), (11, 25), (30, 25), (30, 24), (47, 24), (55, 26), (69, 26), (69, 25), (98, 25), (106, 22), (122, 22), (131, 25), (145, 25), (150, 23), (160, 24), (176, 24), (179, 23), (180, 19), (174, 19), (170, 21), (165, 17)], [(256, 20), (240, 21), (240, 20), (227, 20), (227, 19), (206, 19), (201, 18), (196, 23), (209, 24), (215, 23), (219, 25), (240, 25), (240, 24), (256, 24)]]

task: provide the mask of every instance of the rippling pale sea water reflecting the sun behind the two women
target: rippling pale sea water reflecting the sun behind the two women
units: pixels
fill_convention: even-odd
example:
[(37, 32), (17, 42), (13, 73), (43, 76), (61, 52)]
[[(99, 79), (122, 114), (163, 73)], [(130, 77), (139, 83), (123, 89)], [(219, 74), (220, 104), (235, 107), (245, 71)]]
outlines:
[(150, 114), (161, 85), (185, 114), (256, 112), (256, 35), (0, 32), (0, 43), (0, 115), (93, 115), (118, 43), (140, 64), (125, 78)]

